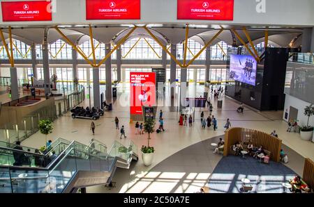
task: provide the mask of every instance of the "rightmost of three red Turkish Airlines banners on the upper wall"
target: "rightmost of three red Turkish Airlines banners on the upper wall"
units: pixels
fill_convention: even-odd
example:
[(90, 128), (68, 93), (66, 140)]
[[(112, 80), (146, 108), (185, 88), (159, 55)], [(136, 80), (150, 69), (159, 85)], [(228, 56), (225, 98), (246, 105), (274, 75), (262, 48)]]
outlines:
[(177, 19), (233, 20), (234, 0), (177, 0)]

